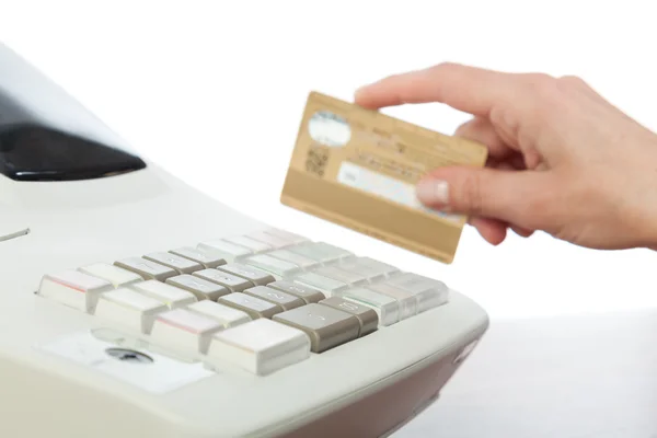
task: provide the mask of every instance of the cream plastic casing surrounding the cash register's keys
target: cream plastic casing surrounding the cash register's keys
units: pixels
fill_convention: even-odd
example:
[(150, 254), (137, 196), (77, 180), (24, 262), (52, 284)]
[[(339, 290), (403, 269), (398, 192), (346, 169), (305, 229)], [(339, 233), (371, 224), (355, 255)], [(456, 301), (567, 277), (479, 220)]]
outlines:
[[(112, 324), (34, 292), (45, 274), (196, 246), (266, 223), (152, 163), (95, 181), (18, 183), (0, 176), (0, 212), (3, 223), (30, 228), (25, 235), (0, 240), (2, 437), (279, 436), (460, 351), (487, 326), (476, 303), (451, 291), (447, 304), (273, 374), (221, 364), (211, 371), (194, 364), (193, 355), (172, 358), (149, 349), (146, 335), (116, 335)], [(150, 354), (154, 364), (120, 362), (127, 367), (120, 368), (118, 361), (68, 359), (92, 356), (70, 347), (71, 339), (91, 336), (92, 330), (99, 338), (122, 338), (117, 346)]]

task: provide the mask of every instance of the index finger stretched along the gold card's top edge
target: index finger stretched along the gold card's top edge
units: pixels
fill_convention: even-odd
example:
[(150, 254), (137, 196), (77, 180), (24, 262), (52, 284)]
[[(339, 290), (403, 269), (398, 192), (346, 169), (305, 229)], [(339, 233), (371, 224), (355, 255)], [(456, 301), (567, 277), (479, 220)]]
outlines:
[(509, 73), (459, 64), (395, 74), (362, 87), (356, 104), (370, 110), (406, 103), (439, 102), (477, 116), (505, 104), (514, 93)]

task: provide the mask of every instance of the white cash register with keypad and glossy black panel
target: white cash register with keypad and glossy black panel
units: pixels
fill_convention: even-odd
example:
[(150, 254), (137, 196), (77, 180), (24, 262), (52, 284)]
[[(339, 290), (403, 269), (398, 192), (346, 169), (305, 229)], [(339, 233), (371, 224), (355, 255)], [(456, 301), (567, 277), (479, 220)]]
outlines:
[(488, 318), (318, 238), (176, 180), (0, 45), (0, 436), (392, 434)]

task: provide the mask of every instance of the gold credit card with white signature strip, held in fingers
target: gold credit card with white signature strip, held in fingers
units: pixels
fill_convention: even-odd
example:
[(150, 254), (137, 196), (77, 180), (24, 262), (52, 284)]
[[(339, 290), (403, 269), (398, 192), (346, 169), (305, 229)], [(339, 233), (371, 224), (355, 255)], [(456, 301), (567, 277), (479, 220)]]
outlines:
[(483, 145), (312, 92), (280, 200), (451, 263), (466, 218), (426, 208), (415, 186), (436, 168), (483, 166), (486, 157)]

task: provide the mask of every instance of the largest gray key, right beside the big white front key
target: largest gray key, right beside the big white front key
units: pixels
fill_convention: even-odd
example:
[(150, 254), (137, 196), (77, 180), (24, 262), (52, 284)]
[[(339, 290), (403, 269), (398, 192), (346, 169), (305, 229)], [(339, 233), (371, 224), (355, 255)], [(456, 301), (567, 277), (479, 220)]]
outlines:
[(306, 332), (313, 353), (354, 341), (360, 332), (358, 319), (353, 314), (315, 303), (278, 313), (273, 320)]

